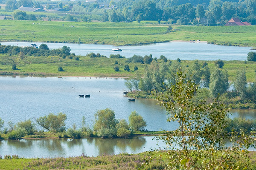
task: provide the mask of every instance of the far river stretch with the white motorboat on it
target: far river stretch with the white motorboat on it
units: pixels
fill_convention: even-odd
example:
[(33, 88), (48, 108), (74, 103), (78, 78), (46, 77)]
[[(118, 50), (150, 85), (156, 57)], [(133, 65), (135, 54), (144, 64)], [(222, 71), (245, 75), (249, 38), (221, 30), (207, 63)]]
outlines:
[[(18, 45), (28, 46), (32, 42), (0, 42), (2, 45)], [(42, 42), (33, 42), (41, 45)], [(212, 45), (206, 42), (164, 42), (150, 45), (140, 46), (122, 46), (119, 47), (122, 51), (112, 51), (116, 48), (112, 45), (96, 45), (96, 44), (71, 44), (71, 43), (45, 43), (49, 48), (62, 48), (64, 45), (69, 46), (71, 53), (76, 55), (86, 55), (90, 52), (100, 53), (107, 57), (110, 54), (120, 54), (126, 58), (136, 55), (149, 55), (152, 54), (153, 58), (160, 58), (164, 55), (167, 59), (184, 59), (184, 60), (246, 60), (247, 53), (251, 47), (239, 47), (239, 46), (224, 46), (224, 45)]]

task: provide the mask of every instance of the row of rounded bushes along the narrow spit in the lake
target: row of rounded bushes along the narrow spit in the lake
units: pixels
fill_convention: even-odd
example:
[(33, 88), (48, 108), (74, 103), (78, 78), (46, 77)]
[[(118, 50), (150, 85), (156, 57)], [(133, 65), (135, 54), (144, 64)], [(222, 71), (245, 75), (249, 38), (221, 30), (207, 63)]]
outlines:
[[(41, 116), (35, 119), (35, 122), (52, 133), (59, 133), (60, 137), (81, 138), (87, 136), (98, 137), (128, 137), (134, 131), (144, 130), (146, 122), (143, 117), (136, 111), (129, 116), (129, 124), (125, 119), (115, 119), (115, 113), (111, 109), (99, 110), (95, 113), (95, 124), (93, 129), (86, 126), (85, 117), (81, 121), (81, 128), (76, 129), (76, 124), (72, 128), (65, 127), (66, 114), (58, 113), (57, 115), (49, 113), (47, 116)], [(0, 118), (0, 132), (4, 121)], [(4, 128), (2, 133), (7, 134), (9, 139), (19, 139), (26, 135), (44, 135), (43, 131), (36, 129), (35, 123), (31, 119), (18, 122), (8, 122), (9, 128)], [(0, 136), (1, 137), (1, 136)]]

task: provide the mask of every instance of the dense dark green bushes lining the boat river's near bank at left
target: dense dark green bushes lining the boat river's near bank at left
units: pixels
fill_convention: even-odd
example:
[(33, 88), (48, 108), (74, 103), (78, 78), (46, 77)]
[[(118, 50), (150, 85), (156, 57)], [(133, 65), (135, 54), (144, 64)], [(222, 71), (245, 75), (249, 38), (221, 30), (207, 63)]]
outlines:
[[(41, 44), (39, 48), (35, 47), (20, 47), (15, 45), (1, 45), (0, 54), (19, 55), (21, 59), (24, 56), (69, 56), (70, 47), (63, 46), (58, 49), (49, 49), (46, 44)], [(75, 56), (75, 54), (72, 54)]]

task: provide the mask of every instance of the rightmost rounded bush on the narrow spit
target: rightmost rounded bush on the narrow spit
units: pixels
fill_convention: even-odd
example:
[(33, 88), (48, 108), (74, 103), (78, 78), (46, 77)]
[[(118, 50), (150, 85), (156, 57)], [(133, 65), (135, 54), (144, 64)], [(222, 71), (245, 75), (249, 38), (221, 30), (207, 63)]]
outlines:
[(129, 126), (131, 127), (131, 130), (143, 130), (146, 125), (147, 124), (142, 116), (140, 116), (136, 111), (131, 112), (129, 116)]

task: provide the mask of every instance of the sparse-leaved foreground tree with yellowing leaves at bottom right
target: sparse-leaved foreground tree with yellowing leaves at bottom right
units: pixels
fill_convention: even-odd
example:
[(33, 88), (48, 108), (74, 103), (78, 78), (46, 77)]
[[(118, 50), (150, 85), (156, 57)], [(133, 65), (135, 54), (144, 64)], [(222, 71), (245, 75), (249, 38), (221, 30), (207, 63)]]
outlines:
[[(244, 133), (228, 133), (224, 105), (217, 100), (209, 104), (204, 100), (193, 102), (199, 86), (181, 71), (175, 77), (175, 84), (157, 97), (166, 108), (167, 121), (179, 124), (176, 130), (160, 136), (168, 148), (166, 169), (246, 169), (247, 159), (241, 164), (237, 159), (247, 156), (244, 148), (253, 145), (253, 138)], [(230, 146), (224, 143), (227, 137), (232, 142)]]

